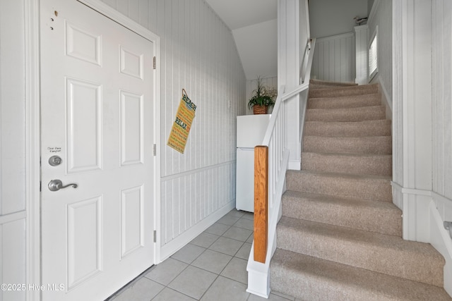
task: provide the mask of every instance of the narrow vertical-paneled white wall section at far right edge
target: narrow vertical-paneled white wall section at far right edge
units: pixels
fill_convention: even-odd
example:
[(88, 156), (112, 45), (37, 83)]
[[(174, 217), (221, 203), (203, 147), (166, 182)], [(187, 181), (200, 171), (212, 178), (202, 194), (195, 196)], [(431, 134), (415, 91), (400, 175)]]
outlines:
[(432, 1), (433, 191), (441, 217), (452, 221), (452, 2)]

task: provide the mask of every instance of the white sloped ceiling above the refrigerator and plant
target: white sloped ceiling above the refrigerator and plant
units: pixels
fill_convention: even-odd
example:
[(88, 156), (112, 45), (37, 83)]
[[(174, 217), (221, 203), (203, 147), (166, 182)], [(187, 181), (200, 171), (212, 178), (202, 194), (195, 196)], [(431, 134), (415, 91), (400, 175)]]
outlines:
[(206, 0), (230, 27), (246, 79), (278, 74), (277, 0)]

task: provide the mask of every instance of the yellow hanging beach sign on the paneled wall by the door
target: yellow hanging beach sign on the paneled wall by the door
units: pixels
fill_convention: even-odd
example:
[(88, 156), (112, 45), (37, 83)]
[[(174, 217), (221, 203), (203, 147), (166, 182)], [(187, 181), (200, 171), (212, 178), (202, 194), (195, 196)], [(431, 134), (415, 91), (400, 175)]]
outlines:
[(169, 147), (176, 149), (181, 154), (184, 154), (186, 140), (189, 139), (191, 123), (193, 122), (193, 118), (195, 118), (195, 111), (196, 104), (191, 102), (185, 90), (182, 89), (182, 99), (167, 142)]

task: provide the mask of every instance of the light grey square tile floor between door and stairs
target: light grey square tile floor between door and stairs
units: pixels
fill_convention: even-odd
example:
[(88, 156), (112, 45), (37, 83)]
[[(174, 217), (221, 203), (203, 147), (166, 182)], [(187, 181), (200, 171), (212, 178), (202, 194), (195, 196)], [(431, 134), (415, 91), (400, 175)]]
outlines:
[[(246, 293), (253, 214), (233, 209), (109, 301), (267, 300)], [(271, 293), (268, 300), (293, 297)]]

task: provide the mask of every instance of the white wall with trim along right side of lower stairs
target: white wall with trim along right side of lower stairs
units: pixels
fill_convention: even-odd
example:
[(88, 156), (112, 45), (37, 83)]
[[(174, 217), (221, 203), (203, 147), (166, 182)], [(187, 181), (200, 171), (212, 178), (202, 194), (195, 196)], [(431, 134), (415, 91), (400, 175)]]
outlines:
[(380, 2), (393, 6), (393, 202), (403, 210), (403, 238), (429, 242), (446, 259), (452, 295), (452, 240), (443, 226), (452, 221), (452, 4)]

